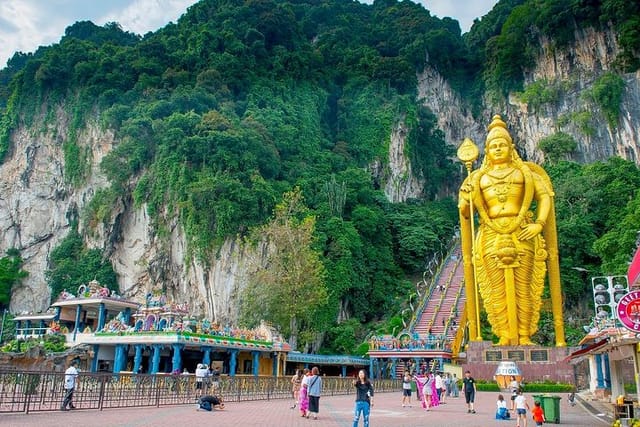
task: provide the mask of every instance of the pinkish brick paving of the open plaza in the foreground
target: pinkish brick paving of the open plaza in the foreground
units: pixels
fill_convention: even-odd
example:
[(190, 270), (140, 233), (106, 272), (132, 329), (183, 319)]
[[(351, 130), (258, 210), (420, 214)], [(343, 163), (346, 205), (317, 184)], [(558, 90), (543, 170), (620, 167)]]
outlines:
[[(515, 421), (494, 419), (495, 401), (498, 393), (478, 393), (476, 414), (467, 414), (463, 398), (450, 398), (447, 404), (425, 412), (418, 405), (402, 408), (401, 393), (379, 393), (376, 395), (371, 427), (507, 427)], [(560, 403), (560, 425), (565, 427), (608, 426), (597, 415), (591, 414), (580, 403), (569, 406), (566, 395)], [(531, 405), (533, 399), (527, 395)], [(160, 408), (123, 408), (83, 410), (68, 412), (38, 412), (30, 414), (0, 414), (0, 426), (125, 426), (125, 427), (182, 427), (215, 425), (222, 427), (348, 427), (353, 423), (354, 396), (325, 396), (320, 399), (319, 419), (300, 417), (296, 409), (290, 409), (291, 400), (253, 402), (227, 402), (223, 411), (197, 411), (196, 405), (165, 406)], [(415, 403), (415, 402), (414, 402)], [(530, 415), (529, 415), (530, 417)], [(360, 421), (362, 425), (362, 420)], [(535, 423), (529, 418), (528, 427)]]

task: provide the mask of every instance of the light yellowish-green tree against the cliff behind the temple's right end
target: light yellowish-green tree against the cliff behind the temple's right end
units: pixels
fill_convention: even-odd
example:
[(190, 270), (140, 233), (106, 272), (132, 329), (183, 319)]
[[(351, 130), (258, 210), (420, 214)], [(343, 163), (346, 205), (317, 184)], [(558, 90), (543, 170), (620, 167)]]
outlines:
[(293, 349), (300, 335), (318, 330), (315, 313), (327, 302), (325, 268), (313, 248), (314, 230), (315, 218), (296, 188), (284, 194), (274, 218), (253, 234), (261, 257), (248, 277), (242, 317), (252, 324), (271, 323), (289, 336)]

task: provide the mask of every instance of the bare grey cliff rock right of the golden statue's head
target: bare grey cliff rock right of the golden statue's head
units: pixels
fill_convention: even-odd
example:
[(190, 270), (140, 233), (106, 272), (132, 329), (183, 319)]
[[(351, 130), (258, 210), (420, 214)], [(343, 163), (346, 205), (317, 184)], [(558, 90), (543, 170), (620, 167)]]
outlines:
[[(562, 131), (571, 135), (578, 148), (570, 160), (593, 162), (619, 156), (640, 162), (640, 72), (622, 75), (625, 91), (620, 105), (620, 119), (610, 127), (600, 108), (585, 99), (585, 91), (603, 73), (611, 71), (620, 49), (612, 31), (597, 32), (592, 28), (577, 29), (573, 45), (558, 49), (549, 40), (542, 40), (542, 53), (536, 66), (525, 76), (525, 84), (546, 81), (561, 84), (554, 103), (544, 104), (537, 110), (511, 96), (504, 117), (515, 136), (519, 149), (530, 160), (541, 162), (543, 153), (537, 148), (540, 139)], [(589, 117), (584, 124), (577, 115)]]

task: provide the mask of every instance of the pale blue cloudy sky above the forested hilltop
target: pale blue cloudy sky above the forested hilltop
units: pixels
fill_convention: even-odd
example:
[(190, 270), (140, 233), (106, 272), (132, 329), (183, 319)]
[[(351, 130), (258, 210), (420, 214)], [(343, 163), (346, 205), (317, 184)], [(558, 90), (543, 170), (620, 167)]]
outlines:
[[(373, 0), (361, 0), (372, 3)], [(196, 0), (0, 0), (0, 68), (17, 51), (34, 52), (60, 41), (65, 28), (77, 21), (97, 25), (118, 22), (136, 34), (175, 22)], [(431, 15), (450, 16), (463, 32), (485, 15), (496, 0), (420, 0)]]

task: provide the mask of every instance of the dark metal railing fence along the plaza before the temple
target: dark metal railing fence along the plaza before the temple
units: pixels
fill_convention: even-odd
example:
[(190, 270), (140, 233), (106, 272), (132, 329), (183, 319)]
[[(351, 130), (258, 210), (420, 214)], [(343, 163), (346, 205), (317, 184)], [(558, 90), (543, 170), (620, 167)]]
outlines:
[[(322, 395), (354, 393), (353, 378), (323, 377)], [(60, 409), (64, 373), (0, 372), (0, 413)], [(398, 391), (397, 379), (373, 380), (376, 392)], [(77, 409), (195, 404), (201, 394), (227, 402), (291, 398), (289, 377), (222, 377), (196, 388), (193, 375), (81, 373), (73, 394)]]

